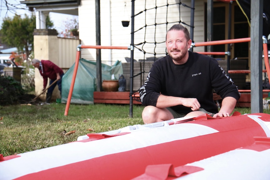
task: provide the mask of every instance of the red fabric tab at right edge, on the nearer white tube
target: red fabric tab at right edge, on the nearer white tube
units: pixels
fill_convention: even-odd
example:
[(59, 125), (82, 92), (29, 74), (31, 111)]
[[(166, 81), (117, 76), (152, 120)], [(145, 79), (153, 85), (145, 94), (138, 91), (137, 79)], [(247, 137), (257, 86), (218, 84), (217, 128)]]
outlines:
[(243, 147), (242, 149), (250, 149), (257, 152), (261, 152), (267, 149), (270, 149), (270, 138), (269, 137), (254, 137), (255, 142), (254, 144)]

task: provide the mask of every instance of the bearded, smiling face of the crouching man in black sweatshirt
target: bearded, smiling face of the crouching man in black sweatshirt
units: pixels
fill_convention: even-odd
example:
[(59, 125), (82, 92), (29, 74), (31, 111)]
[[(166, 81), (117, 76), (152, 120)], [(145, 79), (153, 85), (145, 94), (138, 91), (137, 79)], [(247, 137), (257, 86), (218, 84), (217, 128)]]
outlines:
[(169, 56), (176, 62), (179, 62), (188, 53), (191, 40), (187, 41), (183, 31), (169, 31), (167, 33), (166, 47)]

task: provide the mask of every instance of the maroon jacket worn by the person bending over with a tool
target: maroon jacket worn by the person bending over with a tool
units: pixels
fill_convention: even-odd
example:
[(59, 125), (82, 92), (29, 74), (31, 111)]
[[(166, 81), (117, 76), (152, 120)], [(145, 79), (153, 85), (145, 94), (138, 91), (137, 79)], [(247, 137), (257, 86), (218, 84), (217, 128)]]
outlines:
[(50, 78), (51, 80), (56, 80), (57, 78), (56, 73), (62, 75), (64, 72), (60, 67), (58, 67), (49, 60), (41, 60), (40, 62), (41, 66), (39, 66), (39, 72), (43, 77), (43, 88), (46, 88), (48, 78)]

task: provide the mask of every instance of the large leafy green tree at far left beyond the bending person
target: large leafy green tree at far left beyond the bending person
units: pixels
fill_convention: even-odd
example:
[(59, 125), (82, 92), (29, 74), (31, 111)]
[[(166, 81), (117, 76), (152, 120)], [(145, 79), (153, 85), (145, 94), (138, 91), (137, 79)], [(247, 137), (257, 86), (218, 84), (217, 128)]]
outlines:
[(34, 16), (24, 18), (15, 15), (12, 18), (4, 18), (1, 25), (0, 37), (2, 42), (16, 47), (19, 53), (26, 53), (26, 59), (31, 53), (34, 45), (34, 29), (36, 28), (36, 18)]

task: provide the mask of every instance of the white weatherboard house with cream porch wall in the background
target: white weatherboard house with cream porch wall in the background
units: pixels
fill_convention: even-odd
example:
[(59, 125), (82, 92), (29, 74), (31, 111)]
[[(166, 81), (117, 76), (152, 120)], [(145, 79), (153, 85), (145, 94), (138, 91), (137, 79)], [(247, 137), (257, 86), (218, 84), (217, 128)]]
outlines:
[[(236, 1), (59, 0), (56, 3), (55, 0), (28, 0), (21, 3), (26, 4), (30, 10), (36, 11), (35, 58), (49, 59), (61, 68), (70, 68), (74, 64), (79, 44), (96, 45), (100, 38), (100, 45), (102, 46), (130, 46), (132, 43), (132, 3), (134, 3), (133, 58), (137, 61), (154, 56), (156, 58), (164, 56), (166, 53), (164, 43), (166, 31), (173, 24), (179, 22), (186, 24), (185, 26), (190, 30), (191, 38), (193, 37), (192, 40), (195, 43), (250, 37), (247, 18)], [(191, 8), (193, 5), (194, 8)], [(78, 15), (79, 40), (57, 38), (55, 33), (47, 33), (44, 36), (44, 19), (50, 12)], [(231, 16), (230, 21), (229, 15)], [(122, 21), (130, 21), (129, 26), (123, 27)], [(192, 23), (194, 28), (190, 27)], [(229, 33), (230, 37), (228, 37)], [(213, 57), (225, 60), (227, 58), (244, 59), (247, 61), (247, 68), (249, 68), (249, 47), (250, 42), (246, 42), (231, 44), (231, 46), (227, 44), (209, 47), (200, 46), (193, 48), (193, 51), (230, 51), (230, 57), (224, 55), (214, 55)], [(98, 55), (96, 49), (81, 49), (80, 58), (96, 61), (97, 57), (101, 57), (102, 63), (112, 65), (117, 60), (125, 63), (132, 55), (131, 51), (127, 49), (101, 49), (101, 54)], [(143, 69), (141, 70), (143, 71)], [(145, 71), (147, 72), (147, 70)], [(42, 89), (42, 83), (38, 84), (40, 81), (38, 76), (37, 71), (36, 93)], [(144, 81), (143, 77), (141, 79)], [(249, 75), (247, 75), (247, 80), (250, 80)], [(40, 90), (38, 87), (40, 87)]]

